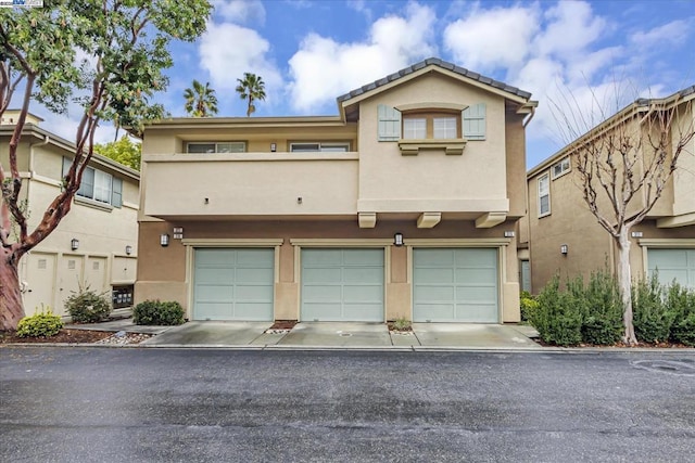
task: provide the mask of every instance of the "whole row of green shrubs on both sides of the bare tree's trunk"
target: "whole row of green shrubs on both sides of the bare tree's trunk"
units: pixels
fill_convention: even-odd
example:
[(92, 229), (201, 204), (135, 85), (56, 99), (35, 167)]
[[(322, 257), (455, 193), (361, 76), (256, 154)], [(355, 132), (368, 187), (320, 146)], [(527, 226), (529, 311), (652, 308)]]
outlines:
[[(541, 291), (529, 321), (541, 339), (556, 346), (614, 345), (622, 336), (623, 304), (617, 279), (607, 270), (581, 276), (565, 288), (555, 275)], [(639, 340), (695, 345), (695, 291), (658, 276), (632, 285), (633, 323)]]

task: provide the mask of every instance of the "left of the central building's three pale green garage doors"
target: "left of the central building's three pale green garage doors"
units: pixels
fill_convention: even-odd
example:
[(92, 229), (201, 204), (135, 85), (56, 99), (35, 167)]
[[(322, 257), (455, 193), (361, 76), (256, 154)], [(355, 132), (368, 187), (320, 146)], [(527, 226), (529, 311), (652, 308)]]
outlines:
[(195, 320), (273, 320), (274, 249), (195, 249)]

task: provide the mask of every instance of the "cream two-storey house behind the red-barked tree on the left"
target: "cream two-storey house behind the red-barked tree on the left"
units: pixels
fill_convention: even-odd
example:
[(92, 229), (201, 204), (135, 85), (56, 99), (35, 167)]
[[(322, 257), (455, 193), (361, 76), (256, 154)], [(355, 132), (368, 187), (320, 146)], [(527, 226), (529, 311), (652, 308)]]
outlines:
[[(9, 143), (18, 112), (5, 111), (0, 125), (0, 159), (9, 166)], [(28, 229), (60, 192), (74, 143), (39, 127), (29, 115), (17, 150)], [(132, 305), (137, 271), (139, 172), (94, 155), (71, 211), (38, 246), (22, 257), (20, 281), (27, 314), (50, 307), (66, 316), (64, 300), (89, 286), (114, 296), (114, 307)]]

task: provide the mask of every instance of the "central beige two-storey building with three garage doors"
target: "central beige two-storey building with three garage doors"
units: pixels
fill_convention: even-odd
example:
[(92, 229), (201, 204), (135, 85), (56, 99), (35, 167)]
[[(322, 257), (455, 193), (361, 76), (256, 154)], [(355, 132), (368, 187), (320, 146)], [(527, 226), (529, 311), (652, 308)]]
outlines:
[(339, 97), (338, 116), (148, 125), (136, 303), (194, 320), (519, 321), (530, 97), (430, 59)]

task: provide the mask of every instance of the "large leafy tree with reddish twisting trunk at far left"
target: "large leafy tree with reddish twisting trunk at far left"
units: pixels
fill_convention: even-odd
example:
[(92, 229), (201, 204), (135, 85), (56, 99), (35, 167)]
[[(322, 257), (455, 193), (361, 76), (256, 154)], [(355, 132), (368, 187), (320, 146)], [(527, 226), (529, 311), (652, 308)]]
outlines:
[[(164, 74), (173, 64), (168, 44), (198, 38), (212, 9), (206, 0), (49, 3), (0, 9), (0, 116), (15, 90), (23, 89), (21, 114), (10, 140), (9, 170), (0, 164), (0, 330), (16, 327), (24, 313), (18, 261), (70, 211), (93, 153), (94, 130), (104, 120), (117, 120), (137, 132), (144, 120), (163, 115), (163, 107), (151, 100), (168, 83)], [(63, 114), (71, 101), (83, 107), (75, 128), (75, 160), (64, 188), (29, 231), (20, 207), (22, 177), (17, 167), (26, 116), (34, 102)], [(16, 242), (11, 241), (13, 221), (20, 230)]]

